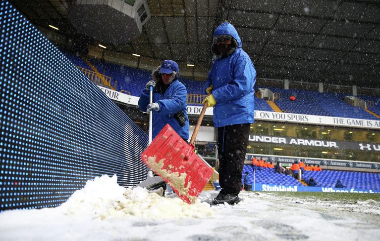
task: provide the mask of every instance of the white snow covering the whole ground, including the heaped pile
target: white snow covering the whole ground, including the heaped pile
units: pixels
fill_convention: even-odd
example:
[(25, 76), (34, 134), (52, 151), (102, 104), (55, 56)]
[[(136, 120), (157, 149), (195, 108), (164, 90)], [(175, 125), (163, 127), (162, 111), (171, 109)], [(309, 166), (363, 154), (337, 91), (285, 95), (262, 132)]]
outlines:
[[(216, 191), (202, 192), (199, 200)], [(339, 203), (241, 192), (237, 205), (189, 205), (124, 189), (116, 177), (88, 181), (55, 208), (0, 213), (0, 240), (266, 241), (379, 240), (380, 203)]]

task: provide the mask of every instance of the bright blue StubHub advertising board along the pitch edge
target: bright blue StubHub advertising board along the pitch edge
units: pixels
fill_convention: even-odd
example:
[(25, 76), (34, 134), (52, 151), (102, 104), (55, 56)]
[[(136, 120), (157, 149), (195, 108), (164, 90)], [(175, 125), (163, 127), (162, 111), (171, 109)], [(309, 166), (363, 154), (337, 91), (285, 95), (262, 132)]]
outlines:
[(380, 193), (372, 190), (362, 190), (354, 188), (323, 188), (323, 187), (306, 187), (306, 186), (286, 186), (256, 183), (252, 187), (253, 191), (266, 192), (324, 192), (324, 193)]

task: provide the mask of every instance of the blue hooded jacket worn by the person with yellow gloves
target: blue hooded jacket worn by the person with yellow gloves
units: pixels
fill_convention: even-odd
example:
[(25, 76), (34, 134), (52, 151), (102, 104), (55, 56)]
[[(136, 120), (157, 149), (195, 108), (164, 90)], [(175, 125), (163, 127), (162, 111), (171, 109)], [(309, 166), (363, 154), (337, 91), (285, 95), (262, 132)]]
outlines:
[(237, 41), (236, 50), (227, 57), (217, 57), (209, 72), (206, 88), (213, 84), (214, 127), (254, 122), (256, 70), (251, 58), (241, 48), (241, 40), (230, 23), (220, 24), (214, 37), (229, 35)]

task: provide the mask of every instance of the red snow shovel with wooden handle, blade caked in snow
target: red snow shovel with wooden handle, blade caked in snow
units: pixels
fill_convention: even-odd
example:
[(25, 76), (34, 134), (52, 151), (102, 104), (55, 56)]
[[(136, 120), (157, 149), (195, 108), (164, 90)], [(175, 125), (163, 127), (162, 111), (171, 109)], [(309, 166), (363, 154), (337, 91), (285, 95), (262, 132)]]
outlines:
[(207, 102), (194, 128), (190, 144), (187, 144), (169, 124), (166, 124), (141, 154), (141, 159), (149, 168), (162, 177), (180, 199), (189, 204), (197, 200), (214, 173), (213, 168), (194, 152), (194, 141), (206, 108)]

